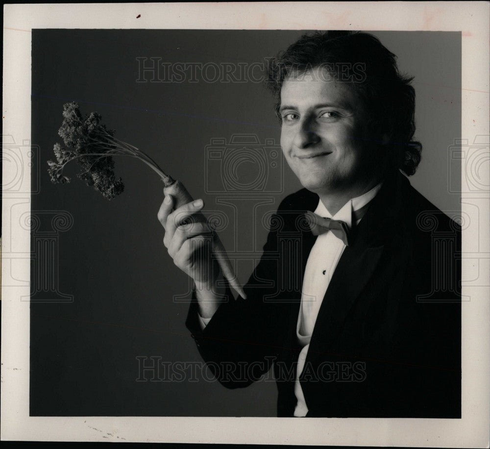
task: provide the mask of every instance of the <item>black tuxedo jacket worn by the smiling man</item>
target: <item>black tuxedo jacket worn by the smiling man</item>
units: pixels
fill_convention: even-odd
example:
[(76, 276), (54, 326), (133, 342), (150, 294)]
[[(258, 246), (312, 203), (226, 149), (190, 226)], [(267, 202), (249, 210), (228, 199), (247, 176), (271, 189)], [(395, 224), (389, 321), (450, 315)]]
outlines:
[[(247, 299), (224, 302), (201, 330), (194, 297), (186, 325), (228, 388), (274, 367), (277, 414), (293, 416), (301, 350), (301, 284), (316, 237), (306, 189), (272, 217)], [(311, 417), (461, 417), (461, 229), (401, 173), (385, 179), (333, 274), (300, 383)]]

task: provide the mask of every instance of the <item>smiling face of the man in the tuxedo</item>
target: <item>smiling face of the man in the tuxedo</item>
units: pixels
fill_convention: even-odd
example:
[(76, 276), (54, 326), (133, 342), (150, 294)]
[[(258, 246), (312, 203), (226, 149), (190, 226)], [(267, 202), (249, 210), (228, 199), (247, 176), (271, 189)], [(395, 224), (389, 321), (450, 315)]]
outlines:
[(281, 89), (281, 148), (303, 187), (324, 195), (363, 193), (373, 178), (361, 101), (316, 68)]

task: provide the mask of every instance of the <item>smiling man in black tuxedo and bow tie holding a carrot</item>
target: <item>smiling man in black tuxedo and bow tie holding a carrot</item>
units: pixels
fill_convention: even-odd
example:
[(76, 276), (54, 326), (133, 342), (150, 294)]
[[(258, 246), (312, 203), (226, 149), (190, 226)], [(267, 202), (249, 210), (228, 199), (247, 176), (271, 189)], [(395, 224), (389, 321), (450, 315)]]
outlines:
[[(229, 388), (273, 366), (278, 416), (461, 417), (460, 294), (434, 288), (461, 232), (405, 176), (421, 151), (410, 81), (366, 33), (305, 35), (271, 65), (304, 189), (273, 217), (247, 299), (210, 270), (209, 226), (182, 225), (202, 201), (172, 212), (165, 192), (164, 244), (196, 284), (186, 325), (200, 354)], [(438, 258), (427, 221), (447, 235)]]

